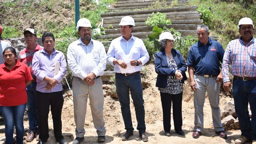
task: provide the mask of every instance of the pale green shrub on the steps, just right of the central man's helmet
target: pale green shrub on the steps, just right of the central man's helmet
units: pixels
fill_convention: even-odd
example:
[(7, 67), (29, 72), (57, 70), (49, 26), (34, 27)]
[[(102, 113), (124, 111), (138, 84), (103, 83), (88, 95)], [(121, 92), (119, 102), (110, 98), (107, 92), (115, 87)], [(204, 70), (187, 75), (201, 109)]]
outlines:
[(170, 19), (166, 19), (166, 15), (161, 12), (157, 12), (156, 14), (152, 12), (150, 18), (145, 21), (147, 26), (160, 26), (160, 25), (167, 25), (172, 24)]

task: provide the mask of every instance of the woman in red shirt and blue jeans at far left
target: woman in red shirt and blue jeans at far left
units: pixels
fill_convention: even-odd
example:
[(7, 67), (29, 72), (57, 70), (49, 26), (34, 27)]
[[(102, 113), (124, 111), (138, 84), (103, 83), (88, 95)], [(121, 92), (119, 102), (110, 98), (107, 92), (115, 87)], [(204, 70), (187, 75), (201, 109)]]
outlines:
[(23, 144), (23, 116), (27, 104), (26, 86), (33, 79), (28, 66), (16, 60), (16, 51), (7, 47), (5, 62), (0, 65), (0, 109), (4, 116), (7, 144), (13, 144), (13, 124), (16, 126), (17, 144)]

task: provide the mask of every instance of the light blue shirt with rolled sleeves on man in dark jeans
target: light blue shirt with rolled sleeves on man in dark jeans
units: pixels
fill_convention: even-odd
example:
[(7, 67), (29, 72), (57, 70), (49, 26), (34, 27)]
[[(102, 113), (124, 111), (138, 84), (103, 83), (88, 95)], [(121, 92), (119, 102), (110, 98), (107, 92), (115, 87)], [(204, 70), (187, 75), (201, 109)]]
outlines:
[(148, 51), (143, 41), (135, 36), (132, 36), (128, 41), (123, 36), (117, 37), (112, 40), (107, 54), (107, 60), (114, 66), (116, 73), (121, 73), (117, 64), (113, 64), (115, 59), (123, 60), (125, 63), (129, 63), (131, 60), (140, 60), (140, 66), (134, 66), (135, 70), (129, 73), (134, 73), (141, 70), (141, 66), (148, 60)]

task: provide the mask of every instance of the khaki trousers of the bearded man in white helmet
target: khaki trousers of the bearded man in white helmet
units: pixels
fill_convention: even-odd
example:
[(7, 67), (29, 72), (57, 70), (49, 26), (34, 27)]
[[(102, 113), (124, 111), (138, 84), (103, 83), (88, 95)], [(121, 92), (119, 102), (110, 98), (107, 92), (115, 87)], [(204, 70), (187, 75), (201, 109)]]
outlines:
[(92, 119), (98, 136), (106, 134), (105, 122), (103, 119), (104, 95), (102, 90), (102, 80), (97, 78), (95, 84), (89, 86), (81, 78), (73, 77), (73, 102), (74, 117), (76, 123), (76, 137), (82, 138), (85, 134), (84, 121), (86, 115), (87, 98), (89, 95)]

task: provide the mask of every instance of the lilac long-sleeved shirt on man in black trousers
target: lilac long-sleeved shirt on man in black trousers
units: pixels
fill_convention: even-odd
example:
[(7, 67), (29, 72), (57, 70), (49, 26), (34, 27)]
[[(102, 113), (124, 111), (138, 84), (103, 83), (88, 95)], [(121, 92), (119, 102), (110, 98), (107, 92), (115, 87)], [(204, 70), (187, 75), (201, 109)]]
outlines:
[[(56, 62), (60, 62), (60, 71), (57, 75), (54, 76), (54, 68)], [(48, 53), (45, 52), (45, 49), (37, 51), (34, 54), (32, 60), (32, 69), (34, 71), (34, 75), (36, 76), (37, 82), (36, 91), (47, 93), (62, 91), (61, 80), (67, 72), (66, 67), (67, 63), (65, 60), (65, 56), (62, 52), (54, 49), (49, 57)], [(47, 81), (44, 80), (45, 76), (56, 78), (58, 80), (57, 84), (52, 87), (51, 90), (46, 90)]]

